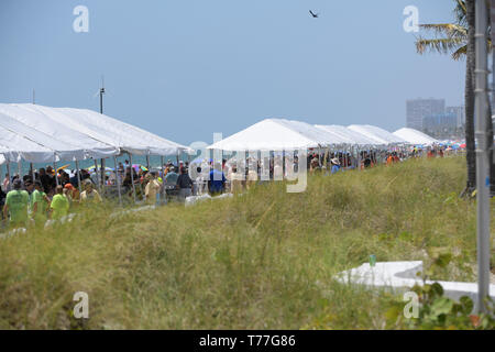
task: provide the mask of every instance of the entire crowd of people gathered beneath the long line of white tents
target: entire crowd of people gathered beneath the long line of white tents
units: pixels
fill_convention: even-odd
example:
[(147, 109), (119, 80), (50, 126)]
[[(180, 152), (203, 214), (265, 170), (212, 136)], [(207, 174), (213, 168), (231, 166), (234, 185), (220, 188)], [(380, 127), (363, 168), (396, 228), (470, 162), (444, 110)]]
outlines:
[[(332, 175), (345, 169), (370, 168), (380, 163), (392, 165), (408, 157), (418, 157), (426, 152), (427, 157), (443, 157), (442, 147), (398, 151), (317, 152), (307, 154), (309, 174)], [(448, 152), (448, 151), (447, 151)], [(12, 227), (25, 227), (29, 222), (42, 226), (47, 219), (62, 219), (72, 209), (99, 204), (103, 198), (117, 198), (127, 201), (144, 201), (148, 205), (163, 205), (173, 199), (185, 201), (187, 197), (209, 194), (221, 195), (226, 191), (240, 194), (257, 183), (266, 180), (295, 179), (298, 173), (297, 155), (271, 155), (266, 158), (246, 157), (202, 160), (189, 165), (188, 162), (168, 161), (156, 170), (140, 165), (130, 165), (129, 161), (119, 163), (117, 169), (95, 168), (72, 170), (52, 166), (32, 170), (28, 175), (6, 175), (0, 187), (2, 220)]]

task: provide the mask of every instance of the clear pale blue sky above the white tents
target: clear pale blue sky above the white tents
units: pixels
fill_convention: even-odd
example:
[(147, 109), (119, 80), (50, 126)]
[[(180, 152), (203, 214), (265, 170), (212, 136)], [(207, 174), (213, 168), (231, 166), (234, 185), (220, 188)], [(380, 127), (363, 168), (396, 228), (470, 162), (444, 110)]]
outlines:
[[(380, 4), (377, 4), (380, 3)], [(406, 123), (406, 99), (463, 101), (464, 62), (415, 51), (403, 10), (451, 0), (1, 0), (0, 102), (99, 109), (189, 144), (264, 118)], [(73, 10), (89, 9), (89, 33)], [(312, 19), (308, 10), (319, 12)]]

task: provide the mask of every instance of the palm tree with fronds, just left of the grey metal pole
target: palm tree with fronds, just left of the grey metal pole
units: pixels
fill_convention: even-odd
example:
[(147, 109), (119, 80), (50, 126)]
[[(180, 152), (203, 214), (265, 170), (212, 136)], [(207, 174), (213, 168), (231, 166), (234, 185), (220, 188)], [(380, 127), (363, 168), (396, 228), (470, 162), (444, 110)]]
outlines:
[[(416, 41), (416, 51), (424, 54), (427, 51), (440, 54), (451, 54), (452, 59), (459, 61), (465, 58), (465, 143), (468, 162), (468, 182), (463, 195), (471, 195), (476, 188), (476, 155), (474, 143), (474, 68), (475, 68), (475, 0), (454, 0), (455, 23), (441, 24), (421, 24), (427, 31), (435, 33), (433, 38), (424, 38), (419, 36)], [(488, 48), (492, 43), (488, 40)], [(493, 125), (491, 113), (488, 141), (493, 141)], [(491, 161), (493, 161), (491, 152)], [(491, 164), (492, 186), (495, 186), (495, 167)]]

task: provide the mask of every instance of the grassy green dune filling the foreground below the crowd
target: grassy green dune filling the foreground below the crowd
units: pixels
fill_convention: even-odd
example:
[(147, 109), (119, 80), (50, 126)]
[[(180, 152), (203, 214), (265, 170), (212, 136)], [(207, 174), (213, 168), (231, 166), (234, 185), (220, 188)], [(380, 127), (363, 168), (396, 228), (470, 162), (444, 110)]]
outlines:
[[(77, 221), (0, 241), (1, 329), (382, 329), (396, 298), (332, 276), (366, 262), (454, 254), (470, 280), (475, 204), (462, 157), (267, 184), (231, 199)], [(72, 317), (89, 295), (89, 319)]]

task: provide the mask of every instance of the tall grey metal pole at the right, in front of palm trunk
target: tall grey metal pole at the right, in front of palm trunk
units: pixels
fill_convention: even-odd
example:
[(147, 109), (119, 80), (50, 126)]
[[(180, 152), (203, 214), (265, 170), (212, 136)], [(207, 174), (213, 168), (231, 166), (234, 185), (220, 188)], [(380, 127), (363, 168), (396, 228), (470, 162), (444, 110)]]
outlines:
[[(490, 167), (486, 118), (488, 114), (488, 53), (486, 48), (488, 12), (486, 0), (475, 0), (475, 141), (476, 141), (476, 235), (477, 310), (487, 312), (490, 296)], [(490, 141), (490, 146), (493, 141)]]

